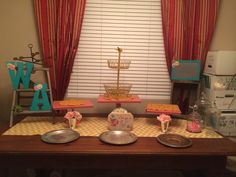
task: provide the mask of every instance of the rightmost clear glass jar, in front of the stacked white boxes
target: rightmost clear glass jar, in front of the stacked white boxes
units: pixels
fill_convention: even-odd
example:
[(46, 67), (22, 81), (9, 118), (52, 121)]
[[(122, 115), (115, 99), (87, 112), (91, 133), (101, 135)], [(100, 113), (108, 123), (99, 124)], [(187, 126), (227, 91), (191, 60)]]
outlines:
[(206, 110), (205, 127), (218, 130), (221, 111), (217, 108), (216, 103), (212, 102)]

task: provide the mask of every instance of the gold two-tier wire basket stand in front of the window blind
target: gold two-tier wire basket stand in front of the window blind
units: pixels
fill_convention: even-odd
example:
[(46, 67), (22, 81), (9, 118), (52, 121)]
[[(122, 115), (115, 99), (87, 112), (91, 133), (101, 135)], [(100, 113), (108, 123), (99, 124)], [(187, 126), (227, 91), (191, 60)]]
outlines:
[(120, 70), (128, 69), (131, 61), (129, 60), (121, 60), (121, 52), (122, 49), (117, 47), (118, 50), (118, 60), (107, 60), (108, 67), (117, 70), (117, 78), (116, 83), (106, 83), (104, 84), (106, 90), (106, 97), (111, 98), (123, 98), (128, 97), (130, 89), (132, 87), (131, 84), (128, 83), (120, 83)]

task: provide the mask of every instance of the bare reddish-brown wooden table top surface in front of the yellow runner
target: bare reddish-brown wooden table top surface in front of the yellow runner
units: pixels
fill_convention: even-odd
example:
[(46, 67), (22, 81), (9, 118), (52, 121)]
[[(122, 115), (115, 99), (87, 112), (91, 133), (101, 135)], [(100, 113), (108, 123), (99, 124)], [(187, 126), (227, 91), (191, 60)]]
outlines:
[(236, 155), (236, 143), (227, 138), (191, 138), (193, 145), (188, 148), (171, 148), (159, 144), (154, 137), (139, 137), (130, 145), (115, 146), (104, 144), (98, 137), (80, 137), (67, 144), (47, 144), (40, 135), (0, 136), (0, 156), (7, 154), (28, 155), (156, 155), (156, 156), (228, 156)]

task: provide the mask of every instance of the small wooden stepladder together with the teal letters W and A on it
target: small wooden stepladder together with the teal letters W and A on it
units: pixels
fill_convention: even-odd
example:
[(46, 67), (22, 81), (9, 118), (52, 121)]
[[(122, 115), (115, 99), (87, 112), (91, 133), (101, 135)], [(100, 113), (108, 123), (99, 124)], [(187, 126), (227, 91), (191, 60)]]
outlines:
[[(16, 115), (30, 115), (52, 112), (52, 90), (49, 68), (34, 67), (33, 63), (7, 62), (13, 85), (13, 98), (10, 114), (12, 127)], [(32, 81), (33, 74), (46, 74), (46, 83)]]

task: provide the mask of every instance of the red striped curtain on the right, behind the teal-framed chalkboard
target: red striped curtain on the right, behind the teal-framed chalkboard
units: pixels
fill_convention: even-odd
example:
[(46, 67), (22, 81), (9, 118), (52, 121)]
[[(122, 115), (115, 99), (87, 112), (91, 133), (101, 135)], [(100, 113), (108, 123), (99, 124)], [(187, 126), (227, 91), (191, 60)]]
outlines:
[(161, 0), (166, 63), (201, 60), (203, 70), (213, 36), (219, 0)]

